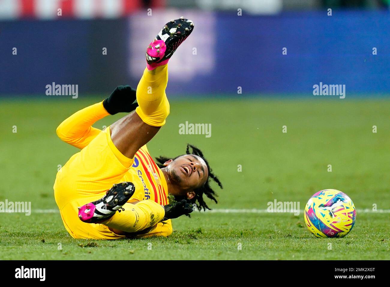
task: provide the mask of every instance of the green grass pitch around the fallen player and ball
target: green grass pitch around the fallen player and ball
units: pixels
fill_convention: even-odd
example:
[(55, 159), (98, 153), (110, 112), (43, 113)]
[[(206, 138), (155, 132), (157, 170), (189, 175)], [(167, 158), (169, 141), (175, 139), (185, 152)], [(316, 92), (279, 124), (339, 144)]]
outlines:
[[(173, 220), (168, 238), (77, 240), (59, 213), (37, 211), (57, 209), (58, 165), (77, 152), (57, 138), (56, 127), (100, 98), (1, 100), (0, 201), (31, 201), (32, 214), (0, 213), (0, 259), (390, 259), (389, 100), (171, 101), (167, 124), (148, 144), (154, 157), (183, 154), (186, 143), (199, 146), (225, 187), (216, 188), (218, 205), (207, 201), (218, 210), (265, 210), (274, 199), (298, 201), (302, 210), (316, 191), (339, 189), (357, 209), (355, 226), (344, 238), (314, 237), (302, 212), (193, 212), (191, 219)], [(179, 134), (185, 121), (211, 123), (211, 137)]]

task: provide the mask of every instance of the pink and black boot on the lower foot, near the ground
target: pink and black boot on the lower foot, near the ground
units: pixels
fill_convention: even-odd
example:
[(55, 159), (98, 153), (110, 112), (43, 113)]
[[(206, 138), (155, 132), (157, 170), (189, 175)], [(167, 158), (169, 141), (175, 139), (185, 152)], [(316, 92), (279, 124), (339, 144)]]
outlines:
[(115, 212), (124, 210), (124, 205), (133, 196), (135, 186), (131, 182), (114, 184), (103, 198), (78, 208), (78, 217), (86, 223), (101, 223)]

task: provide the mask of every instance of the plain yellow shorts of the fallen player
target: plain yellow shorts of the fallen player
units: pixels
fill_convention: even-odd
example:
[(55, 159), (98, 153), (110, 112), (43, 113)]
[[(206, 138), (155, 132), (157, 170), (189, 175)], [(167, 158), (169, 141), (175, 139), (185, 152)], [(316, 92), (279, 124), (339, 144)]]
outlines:
[(113, 184), (123, 181), (129, 169), (124, 164), (130, 167), (132, 163), (112, 143), (110, 127), (107, 127), (58, 171), (54, 183), (55, 201), (65, 228), (73, 238), (125, 237), (105, 225), (82, 222), (77, 209), (102, 198)]

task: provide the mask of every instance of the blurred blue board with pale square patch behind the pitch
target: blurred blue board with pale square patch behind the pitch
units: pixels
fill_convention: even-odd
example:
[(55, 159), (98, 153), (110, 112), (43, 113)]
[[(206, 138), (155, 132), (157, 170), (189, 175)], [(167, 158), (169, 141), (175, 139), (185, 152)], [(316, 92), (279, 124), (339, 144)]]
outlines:
[[(39, 12), (42, 7), (48, 9), (47, 2), (51, 3), (51, 10), (45, 13), (50, 12), (50, 17)], [(62, 10), (62, 16), (57, 16), (57, 7), (68, 2), (73, 3), (71, 9)], [(312, 96), (313, 85), (319, 82), (345, 84), (349, 95), (388, 93), (387, 9), (356, 10), (353, 6), (341, 9), (317, 3), (316, 9), (298, 6), (294, 10), (254, 14), (253, 6), (264, 5), (263, 2), (242, 1), (223, 11), (200, 10), (207, 6), (207, 1), (180, 1), (177, 9), (174, 9), (176, 2), (167, 1), (165, 8), (162, 4), (149, 7), (138, 2), (134, 6), (137, 9), (117, 7), (115, 11), (122, 13), (117, 14), (122, 16), (118, 18), (106, 6), (121, 3), (128, 7), (127, 1), (66, 0), (54, 5), (56, 1), (52, 0), (2, 0), (0, 94), (45, 96), (45, 87), (52, 82), (78, 84), (83, 96), (108, 93), (118, 83), (136, 85), (145, 65), (141, 56), (145, 45), (156, 36), (161, 25), (182, 14), (193, 19), (197, 26), (170, 61), (167, 92), (171, 97), (186, 96), (190, 91), (213, 95), (237, 93), (238, 87), (242, 87), (240, 96), (262, 93)], [(290, 1), (285, 2), (287, 5)], [(16, 3), (35, 5), (28, 10), (30, 14), (15, 14), (17, 19), (1, 20), (6, 5)], [(217, 3), (220, 8), (228, 8), (222, 1), (209, 2)], [(378, 2), (371, 4), (374, 3)], [(191, 6), (194, 9), (189, 9)], [(328, 8), (333, 8), (332, 16), (328, 16)], [(89, 14), (85, 12), (87, 9), (91, 9)], [(17, 55), (13, 55), (13, 48), (17, 49)]]

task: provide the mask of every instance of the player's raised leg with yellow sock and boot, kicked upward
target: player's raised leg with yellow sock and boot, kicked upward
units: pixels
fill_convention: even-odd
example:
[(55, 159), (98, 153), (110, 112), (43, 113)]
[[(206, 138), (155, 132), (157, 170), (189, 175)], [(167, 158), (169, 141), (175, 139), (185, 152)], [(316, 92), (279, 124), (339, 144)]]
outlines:
[(138, 107), (110, 126), (116, 148), (126, 157), (149, 142), (165, 124), (169, 103), (165, 88), (168, 82), (167, 62), (177, 47), (191, 34), (193, 22), (183, 17), (171, 20), (146, 50), (147, 68), (137, 87)]

